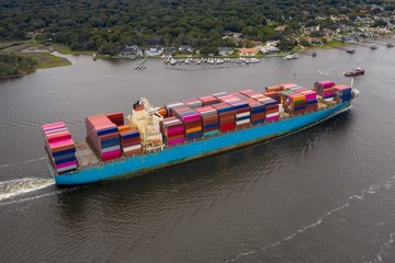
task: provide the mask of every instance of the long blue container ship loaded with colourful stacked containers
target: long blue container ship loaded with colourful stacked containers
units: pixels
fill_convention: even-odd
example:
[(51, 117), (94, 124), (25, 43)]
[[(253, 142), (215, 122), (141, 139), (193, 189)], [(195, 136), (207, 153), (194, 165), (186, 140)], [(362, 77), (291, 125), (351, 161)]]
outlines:
[(309, 127), (351, 108), (359, 91), (325, 80), (262, 91), (221, 92), (154, 107), (142, 98), (132, 115), (86, 117), (86, 141), (75, 142), (64, 122), (42, 126), (57, 185), (89, 184), (144, 174), (258, 144)]

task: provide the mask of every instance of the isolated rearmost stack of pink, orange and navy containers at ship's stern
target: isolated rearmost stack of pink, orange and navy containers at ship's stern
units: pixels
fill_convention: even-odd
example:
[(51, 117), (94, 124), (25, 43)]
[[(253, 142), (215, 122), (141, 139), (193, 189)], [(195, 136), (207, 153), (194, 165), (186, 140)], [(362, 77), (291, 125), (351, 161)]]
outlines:
[(42, 126), (45, 148), (56, 172), (77, 169), (76, 144), (65, 123), (52, 123)]

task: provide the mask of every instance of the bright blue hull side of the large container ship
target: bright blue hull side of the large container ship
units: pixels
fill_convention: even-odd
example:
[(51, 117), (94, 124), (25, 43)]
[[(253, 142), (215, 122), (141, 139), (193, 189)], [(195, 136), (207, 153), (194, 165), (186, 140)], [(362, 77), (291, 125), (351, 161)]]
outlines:
[[(297, 129), (302, 129), (332, 117), (351, 106), (351, 102), (343, 102), (335, 107), (317, 111), (311, 114), (268, 123), (217, 137), (165, 148), (156, 153), (135, 156), (125, 160), (105, 162), (103, 165), (83, 168), (65, 174), (53, 174), (58, 185), (77, 185), (100, 182), (126, 175), (142, 174), (160, 168), (182, 163), (205, 156), (239, 148), (263, 141)], [(50, 169), (50, 171), (53, 171)]]

